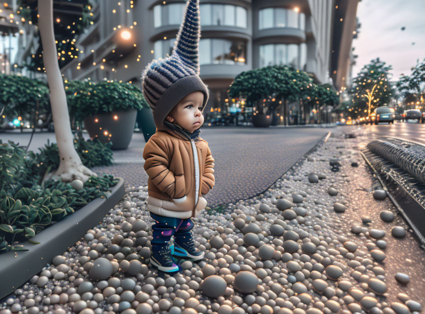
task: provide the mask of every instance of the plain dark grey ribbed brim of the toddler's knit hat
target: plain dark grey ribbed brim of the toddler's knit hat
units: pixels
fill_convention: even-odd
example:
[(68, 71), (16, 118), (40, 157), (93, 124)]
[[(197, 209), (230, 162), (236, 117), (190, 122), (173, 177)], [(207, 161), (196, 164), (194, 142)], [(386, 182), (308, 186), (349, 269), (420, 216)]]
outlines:
[(167, 88), (153, 110), (153, 121), (156, 128), (160, 131), (165, 131), (167, 127), (164, 126), (164, 120), (170, 111), (184, 97), (196, 91), (201, 91), (204, 94), (204, 102), (202, 104), (202, 110), (204, 110), (209, 93), (207, 86), (197, 75), (183, 77)]

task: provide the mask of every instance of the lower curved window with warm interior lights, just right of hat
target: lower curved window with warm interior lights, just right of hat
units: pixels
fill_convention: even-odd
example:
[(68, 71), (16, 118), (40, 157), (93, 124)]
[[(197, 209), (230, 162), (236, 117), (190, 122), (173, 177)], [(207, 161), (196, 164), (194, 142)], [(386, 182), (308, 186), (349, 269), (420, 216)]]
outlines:
[(245, 64), (246, 44), (241, 40), (201, 39), (199, 42), (199, 63), (204, 64)]

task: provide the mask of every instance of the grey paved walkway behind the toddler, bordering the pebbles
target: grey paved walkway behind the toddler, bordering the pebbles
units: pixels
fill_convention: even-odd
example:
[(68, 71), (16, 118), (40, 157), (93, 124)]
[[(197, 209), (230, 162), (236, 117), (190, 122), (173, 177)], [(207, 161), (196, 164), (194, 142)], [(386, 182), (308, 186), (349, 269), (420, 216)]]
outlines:
[[(201, 137), (208, 141), (214, 157), (214, 189), (206, 196), (208, 206), (235, 203), (267, 189), (299, 158), (311, 149), (321, 137), (334, 128), (203, 128)], [(84, 134), (89, 138), (88, 134)], [(30, 133), (0, 133), (0, 139), (11, 139), (27, 145)], [(54, 133), (35, 133), (30, 150), (38, 151), (55, 141)], [(126, 188), (147, 185), (148, 176), (143, 169), (142, 133), (134, 133), (127, 150), (114, 151), (115, 163), (95, 167), (98, 174), (112, 174), (125, 179)]]

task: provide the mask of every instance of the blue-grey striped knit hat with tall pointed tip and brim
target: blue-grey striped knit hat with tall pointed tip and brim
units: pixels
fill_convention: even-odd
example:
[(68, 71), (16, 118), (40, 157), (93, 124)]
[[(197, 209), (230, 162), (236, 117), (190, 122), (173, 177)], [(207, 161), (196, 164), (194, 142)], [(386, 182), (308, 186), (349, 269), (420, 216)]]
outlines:
[(199, 78), (199, 0), (188, 0), (183, 23), (180, 26), (173, 52), (170, 56), (153, 60), (143, 72), (143, 95), (153, 110), (153, 120), (158, 130), (165, 130), (165, 117), (188, 94), (201, 91), (204, 103), (208, 88)]

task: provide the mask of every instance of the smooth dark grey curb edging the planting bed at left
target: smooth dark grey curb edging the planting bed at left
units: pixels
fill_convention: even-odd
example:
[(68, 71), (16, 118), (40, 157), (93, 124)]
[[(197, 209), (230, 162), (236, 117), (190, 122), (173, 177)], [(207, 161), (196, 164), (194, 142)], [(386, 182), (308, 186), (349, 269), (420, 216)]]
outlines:
[(106, 192), (108, 198), (96, 198), (81, 209), (63, 218), (23, 243), (29, 251), (7, 252), (0, 255), (0, 299), (12, 293), (32, 276), (50, 264), (57, 255), (62, 255), (84, 233), (97, 225), (105, 214), (124, 196), (124, 179)]

